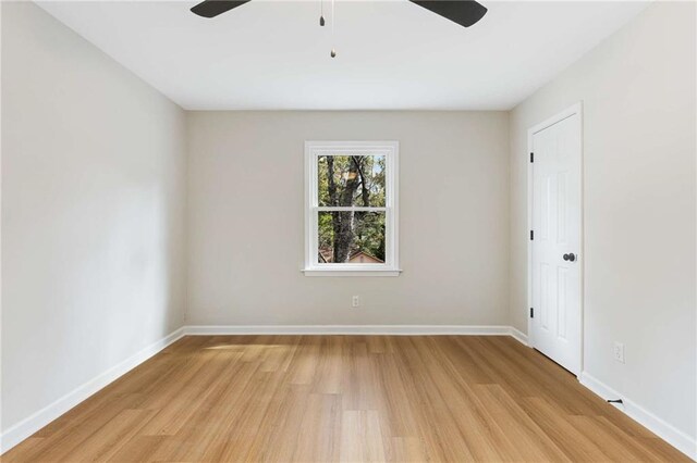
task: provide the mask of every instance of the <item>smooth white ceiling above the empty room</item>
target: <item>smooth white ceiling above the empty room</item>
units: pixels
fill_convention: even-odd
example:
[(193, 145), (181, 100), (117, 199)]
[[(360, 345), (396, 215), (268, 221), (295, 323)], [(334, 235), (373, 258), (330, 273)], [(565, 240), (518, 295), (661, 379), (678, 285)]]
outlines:
[(254, 0), (216, 18), (197, 1), (39, 5), (188, 110), (509, 110), (647, 2), (480, 0), (463, 28), (406, 0), (338, 1), (331, 59), (317, 1)]

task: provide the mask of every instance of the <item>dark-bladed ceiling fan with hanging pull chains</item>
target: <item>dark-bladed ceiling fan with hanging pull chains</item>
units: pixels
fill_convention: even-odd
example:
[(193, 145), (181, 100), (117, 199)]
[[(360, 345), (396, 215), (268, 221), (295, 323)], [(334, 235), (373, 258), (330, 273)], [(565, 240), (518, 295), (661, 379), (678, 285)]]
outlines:
[[(227, 11), (241, 7), (250, 0), (205, 0), (194, 8), (192, 13), (203, 17), (216, 17)], [(487, 9), (475, 0), (409, 0), (426, 10), (441, 15), (453, 23), (464, 27), (476, 24), (487, 13)], [(333, 0), (332, 0), (333, 5)], [(323, 14), (319, 17), (319, 25), (325, 25)], [(333, 22), (332, 22), (333, 25)], [(337, 57), (337, 52), (332, 48), (331, 57)]]

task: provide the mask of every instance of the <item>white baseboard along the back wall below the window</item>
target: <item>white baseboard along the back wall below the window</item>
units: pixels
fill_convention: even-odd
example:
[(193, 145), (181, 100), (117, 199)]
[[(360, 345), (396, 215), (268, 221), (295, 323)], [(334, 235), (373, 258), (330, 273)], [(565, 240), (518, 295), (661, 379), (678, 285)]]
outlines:
[(184, 326), (188, 336), (210, 335), (468, 335), (511, 336), (499, 325), (248, 325)]

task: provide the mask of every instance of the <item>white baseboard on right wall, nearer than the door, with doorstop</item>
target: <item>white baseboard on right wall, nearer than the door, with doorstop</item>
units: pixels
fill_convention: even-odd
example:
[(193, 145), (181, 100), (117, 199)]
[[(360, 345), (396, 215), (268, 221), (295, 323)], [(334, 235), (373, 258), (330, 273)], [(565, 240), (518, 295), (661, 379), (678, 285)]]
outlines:
[(677, 450), (685, 453), (690, 459), (697, 460), (697, 441), (695, 440), (695, 438), (665, 423), (653, 413), (644, 409), (633, 400), (627, 399), (599, 379), (596, 379), (587, 372), (582, 372), (580, 376), (578, 376), (578, 380), (582, 385), (586, 386), (597, 396), (600, 396), (606, 400), (622, 399), (621, 404), (613, 403), (616, 409), (624, 412), (632, 420), (639, 423), (641, 426), (656, 434), (658, 437), (665, 440), (668, 443), (675, 447)]

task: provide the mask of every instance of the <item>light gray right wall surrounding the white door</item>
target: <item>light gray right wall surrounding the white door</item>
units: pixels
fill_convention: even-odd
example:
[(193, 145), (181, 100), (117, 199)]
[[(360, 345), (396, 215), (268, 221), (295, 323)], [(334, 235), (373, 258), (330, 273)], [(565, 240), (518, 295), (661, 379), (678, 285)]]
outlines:
[(695, 3), (660, 2), (511, 113), (511, 323), (527, 331), (527, 129), (583, 101), (584, 370), (693, 439), (695, 57)]

